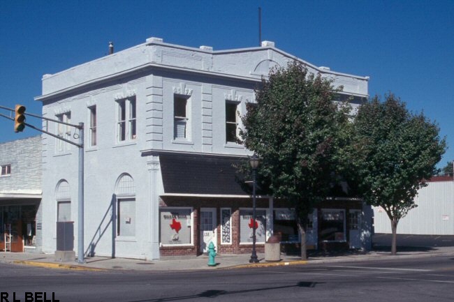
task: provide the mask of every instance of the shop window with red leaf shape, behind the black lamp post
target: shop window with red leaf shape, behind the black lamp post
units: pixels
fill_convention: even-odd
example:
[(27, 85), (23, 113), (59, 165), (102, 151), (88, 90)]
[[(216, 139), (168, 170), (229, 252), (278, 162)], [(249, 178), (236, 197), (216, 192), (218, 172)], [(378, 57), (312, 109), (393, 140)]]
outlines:
[[(256, 242), (266, 241), (266, 211), (256, 210)], [(240, 243), (252, 243), (252, 210), (240, 210)]]

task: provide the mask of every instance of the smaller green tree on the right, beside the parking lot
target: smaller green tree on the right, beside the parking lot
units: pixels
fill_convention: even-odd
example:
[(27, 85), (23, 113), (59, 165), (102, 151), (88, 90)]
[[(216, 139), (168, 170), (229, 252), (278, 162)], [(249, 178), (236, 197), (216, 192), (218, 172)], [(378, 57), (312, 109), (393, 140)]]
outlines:
[(363, 199), (381, 206), (391, 222), (391, 253), (396, 254), (397, 224), (416, 204), (446, 150), (439, 128), (422, 113), (413, 114), (392, 93), (381, 103), (376, 96), (360, 106), (354, 119), (351, 160)]

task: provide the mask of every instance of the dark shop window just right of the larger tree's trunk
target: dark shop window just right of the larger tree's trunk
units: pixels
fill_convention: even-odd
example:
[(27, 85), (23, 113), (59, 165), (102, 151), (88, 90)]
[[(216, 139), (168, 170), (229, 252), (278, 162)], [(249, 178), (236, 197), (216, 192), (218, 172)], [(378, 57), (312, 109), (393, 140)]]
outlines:
[(321, 241), (345, 241), (344, 210), (322, 209), (320, 232)]

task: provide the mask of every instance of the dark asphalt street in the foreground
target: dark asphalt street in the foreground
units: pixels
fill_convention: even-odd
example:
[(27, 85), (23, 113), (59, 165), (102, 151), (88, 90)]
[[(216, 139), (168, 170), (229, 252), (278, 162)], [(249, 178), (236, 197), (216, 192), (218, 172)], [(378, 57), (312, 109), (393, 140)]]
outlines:
[[(393, 259), (216, 271), (65, 271), (0, 264), (13, 301), (453, 301), (454, 258)], [(3, 296), (4, 297), (4, 296)], [(34, 296), (36, 298), (36, 296)], [(38, 294), (38, 299), (43, 296)], [(1, 300), (0, 300), (1, 301)], [(37, 302), (34, 299), (34, 302)]]

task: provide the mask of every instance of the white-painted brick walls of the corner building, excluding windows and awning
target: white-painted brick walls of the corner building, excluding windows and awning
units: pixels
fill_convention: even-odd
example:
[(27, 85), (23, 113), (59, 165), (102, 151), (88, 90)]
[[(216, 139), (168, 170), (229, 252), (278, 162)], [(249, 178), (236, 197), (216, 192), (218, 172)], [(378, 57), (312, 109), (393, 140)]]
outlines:
[[(255, 102), (254, 88), (272, 66), (286, 66), (294, 56), (272, 44), (242, 50), (213, 51), (163, 43), (159, 38), (101, 59), (43, 77), (43, 114), (71, 111), (71, 122), (89, 124), (88, 107), (96, 105), (97, 144), (85, 148), (85, 250), (112, 254), (111, 203), (119, 176), (131, 175), (136, 186), (136, 235), (115, 239), (117, 257), (159, 258), (159, 195), (163, 192), (159, 151), (247, 156), (242, 145), (226, 143), (226, 101)], [(300, 60), (301, 61), (301, 60)], [(345, 92), (367, 96), (367, 77), (317, 68)], [(188, 98), (189, 138), (174, 139), (175, 94)], [(136, 98), (137, 137), (117, 142), (117, 102)], [(47, 123), (45, 123), (47, 124)], [(48, 123), (47, 130), (56, 126)], [(87, 127), (86, 127), (87, 129)], [(71, 130), (73, 135), (77, 130)], [(86, 130), (85, 137), (88, 137)], [(73, 139), (77, 142), (77, 139)], [(87, 139), (85, 139), (87, 144)], [(56, 151), (56, 139), (43, 136), (43, 250), (55, 250), (57, 201), (61, 180), (71, 186), (71, 219), (77, 221), (78, 150)], [(77, 234), (75, 234), (77, 237)], [(77, 248), (75, 239), (75, 250)]]

